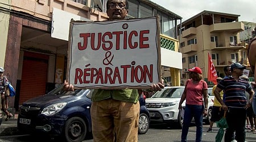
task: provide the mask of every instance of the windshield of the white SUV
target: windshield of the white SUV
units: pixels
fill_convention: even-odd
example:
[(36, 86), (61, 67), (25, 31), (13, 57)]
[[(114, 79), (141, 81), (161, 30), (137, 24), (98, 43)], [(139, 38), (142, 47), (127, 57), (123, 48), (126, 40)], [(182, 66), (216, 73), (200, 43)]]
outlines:
[(184, 87), (165, 88), (156, 92), (152, 98), (180, 98), (183, 91)]

